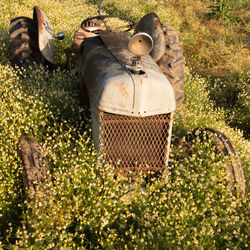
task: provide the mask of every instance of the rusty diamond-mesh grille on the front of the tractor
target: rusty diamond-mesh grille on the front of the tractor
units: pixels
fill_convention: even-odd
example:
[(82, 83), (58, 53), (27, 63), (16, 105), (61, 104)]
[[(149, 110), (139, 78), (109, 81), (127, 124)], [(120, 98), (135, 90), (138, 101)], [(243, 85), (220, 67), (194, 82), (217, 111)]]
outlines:
[(155, 172), (166, 167), (171, 114), (143, 118), (101, 113), (101, 152), (119, 172)]

